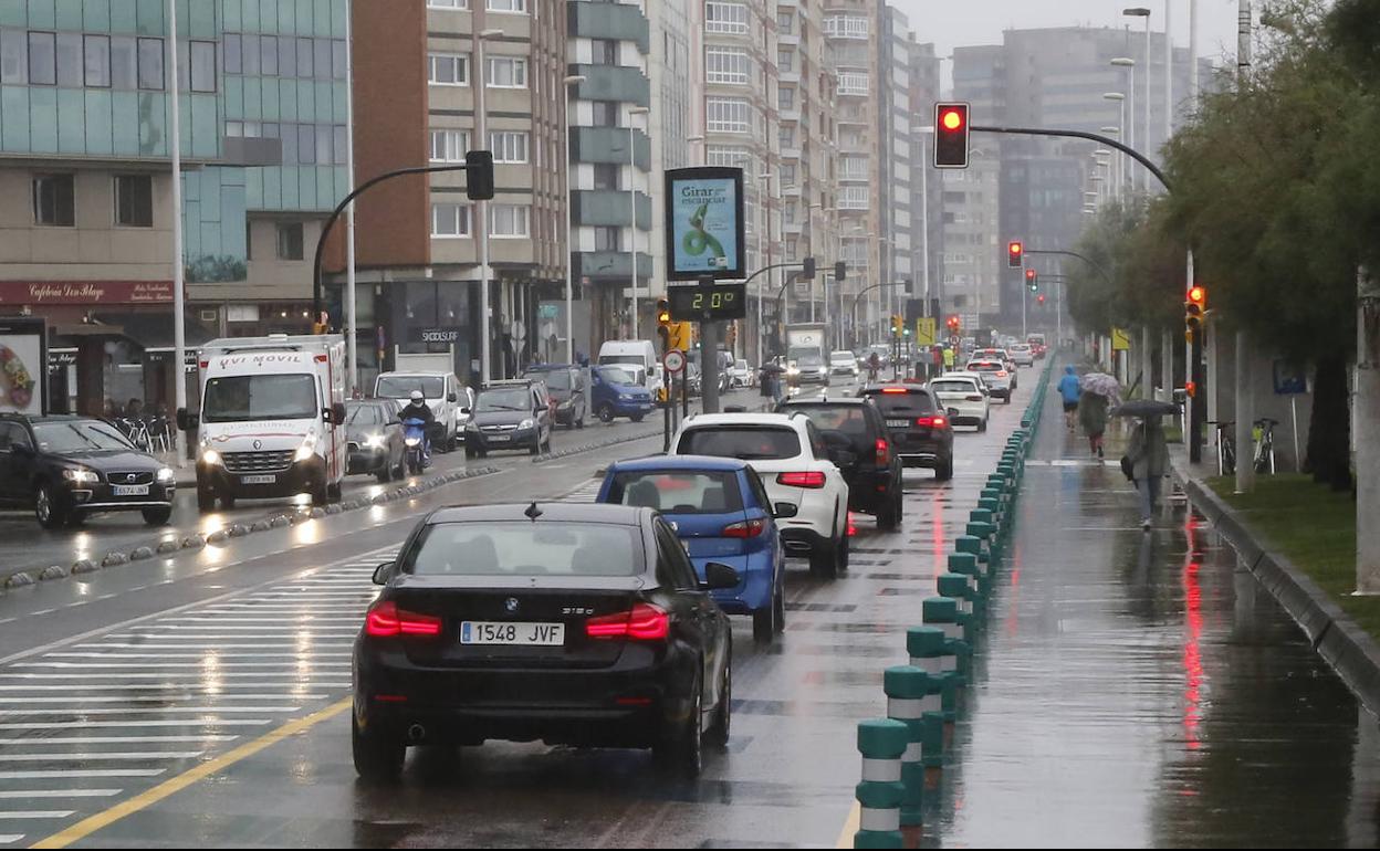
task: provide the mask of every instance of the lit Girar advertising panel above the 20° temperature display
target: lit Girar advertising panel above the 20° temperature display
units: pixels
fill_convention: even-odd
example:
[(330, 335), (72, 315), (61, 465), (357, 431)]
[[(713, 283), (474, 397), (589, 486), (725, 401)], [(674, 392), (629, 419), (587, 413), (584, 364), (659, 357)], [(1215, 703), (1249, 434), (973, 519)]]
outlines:
[(671, 280), (747, 277), (741, 168), (672, 168), (665, 199)]

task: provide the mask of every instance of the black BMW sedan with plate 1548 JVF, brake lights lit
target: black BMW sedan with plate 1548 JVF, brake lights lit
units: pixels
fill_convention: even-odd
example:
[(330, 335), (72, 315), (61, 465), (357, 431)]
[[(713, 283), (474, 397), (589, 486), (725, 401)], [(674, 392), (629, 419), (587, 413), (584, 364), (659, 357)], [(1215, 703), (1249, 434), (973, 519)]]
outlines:
[(439, 509), (396, 561), (355, 643), (355, 768), (399, 774), (408, 745), (486, 739), (651, 748), (687, 775), (729, 738), (733, 644), (696, 571), (646, 508)]

